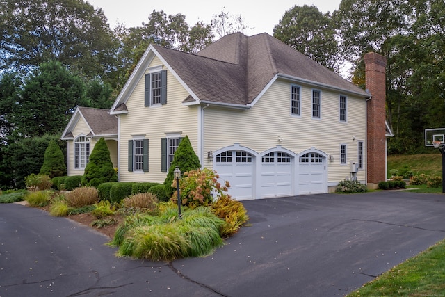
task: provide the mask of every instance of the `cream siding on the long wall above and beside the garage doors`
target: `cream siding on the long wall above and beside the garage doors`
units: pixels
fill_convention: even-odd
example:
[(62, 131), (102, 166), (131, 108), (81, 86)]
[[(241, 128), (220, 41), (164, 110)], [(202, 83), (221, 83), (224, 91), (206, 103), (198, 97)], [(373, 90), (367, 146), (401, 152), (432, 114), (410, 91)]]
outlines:
[[(314, 147), (334, 156), (333, 162), (327, 160), (328, 182), (338, 182), (349, 176), (349, 161), (358, 159), (357, 141), (366, 139), (365, 99), (348, 95), (347, 122), (340, 122), (340, 93), (315, 88), (321, 90), (321, 118), (313, 119), (313, 88), (304, 84), (296, 85), (301, 88), (300, 116), (291, 115), (291, 83), (280, 80), (275, 81), (250, 110), (205, 109), (204, 152), (216, 151), (234, 143), (249, 147), (257, 153), (277, 145), (296, 154)], [(281, 143), (278, 142), (279, 136), (282, 138)], [(346, 166), (340, 164), (340, 143), (347, 145)], [(364, 168), (365, 162), (366, 156)], [(205, 165), (211, 166), (208, 162)], [(364, 170), (359, 171), (358, 179), (365, 179)]]

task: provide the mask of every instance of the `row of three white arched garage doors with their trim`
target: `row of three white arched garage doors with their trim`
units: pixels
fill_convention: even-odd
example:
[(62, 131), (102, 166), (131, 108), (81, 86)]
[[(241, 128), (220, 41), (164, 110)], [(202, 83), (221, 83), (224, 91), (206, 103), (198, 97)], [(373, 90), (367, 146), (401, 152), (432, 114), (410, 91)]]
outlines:
[(295, 154), (277, 146), (261, 154), (247, 147), (215, 152), (213, 169), (236, 200), (327, 193), (326, 154), (311, 148)]

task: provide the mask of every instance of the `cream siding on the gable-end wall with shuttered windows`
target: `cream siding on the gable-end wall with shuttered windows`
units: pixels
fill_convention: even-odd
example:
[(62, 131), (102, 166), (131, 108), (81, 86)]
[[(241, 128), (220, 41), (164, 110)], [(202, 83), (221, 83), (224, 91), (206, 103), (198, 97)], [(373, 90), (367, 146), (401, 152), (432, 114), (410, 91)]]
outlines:
[[(158, 65), (161, 65), (161, 61), (155, 57), (149, 67)], [(161, 138), (167, 137), (168, 134), (188, 136), (195, 153), (198, 153), (197, 106), (188, 107), (182, 104), (182, 101), (188, 97), (186, 89), (168, 71), (167, 104), (146, 107), (144, 106), (144, 83), (144, 77), (142, 77), (126, 103), (128, 114), (120, 115), (118, 166), (120, 182), (162, 183), (166, 174), (161, 172)], [(134, 136), (143, 136), (149, 140), (148, 172), (128, 171), (128, 141)]]

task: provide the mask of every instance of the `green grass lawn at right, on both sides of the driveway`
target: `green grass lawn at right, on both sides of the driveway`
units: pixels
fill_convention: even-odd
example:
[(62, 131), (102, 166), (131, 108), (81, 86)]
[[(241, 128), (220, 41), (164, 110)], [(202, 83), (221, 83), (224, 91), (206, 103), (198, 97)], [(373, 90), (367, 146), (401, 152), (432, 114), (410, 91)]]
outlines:
[[(388, 172), (394, 168), (411, 170), (414, 175), (442, 176), (442, 155), (389, 156)], [(408, 186), (407, 191), (442, 194), (442, 187)], [(445, 296), (445, 240), (407, 259), (348, 296)]]

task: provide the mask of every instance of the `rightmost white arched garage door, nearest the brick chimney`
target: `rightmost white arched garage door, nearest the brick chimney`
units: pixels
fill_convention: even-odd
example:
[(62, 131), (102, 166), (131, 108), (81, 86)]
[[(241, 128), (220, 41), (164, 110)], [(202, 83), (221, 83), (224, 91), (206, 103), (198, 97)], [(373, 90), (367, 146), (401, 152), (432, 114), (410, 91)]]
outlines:
[(325, 158), (309, 152), (300, 156), (298, 170), (298, 195), (326, 193)]

